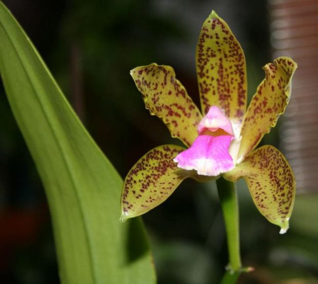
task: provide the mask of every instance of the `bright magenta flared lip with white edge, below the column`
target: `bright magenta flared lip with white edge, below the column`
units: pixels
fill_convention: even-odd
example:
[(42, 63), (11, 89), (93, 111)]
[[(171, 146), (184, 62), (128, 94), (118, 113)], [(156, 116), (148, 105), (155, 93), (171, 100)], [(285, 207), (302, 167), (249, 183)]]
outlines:
[(193, 145), (178, 154), (174, 161), (179, 168), (195, 170), (199, 175), (217, 176), (234, 168), (229, 154), (232, 139), (230, 135), (197, 136)]

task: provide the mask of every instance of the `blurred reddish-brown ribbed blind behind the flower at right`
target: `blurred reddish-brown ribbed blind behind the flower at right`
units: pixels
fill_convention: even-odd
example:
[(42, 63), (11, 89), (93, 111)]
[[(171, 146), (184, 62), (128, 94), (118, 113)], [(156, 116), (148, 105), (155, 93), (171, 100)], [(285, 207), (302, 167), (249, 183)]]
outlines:
[(273, 57), (298, 64), (280, 128), (281, 149), (295, 174), (297, 192), (318, 184), (318, 1), (270, 0)]

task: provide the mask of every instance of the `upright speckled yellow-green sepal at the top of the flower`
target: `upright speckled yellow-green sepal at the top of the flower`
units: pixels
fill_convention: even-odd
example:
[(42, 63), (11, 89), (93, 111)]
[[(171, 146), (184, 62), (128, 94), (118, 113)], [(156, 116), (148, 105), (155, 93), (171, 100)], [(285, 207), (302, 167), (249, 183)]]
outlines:
[(214, 11), (197, 43), (196, 72), (202, 113), (217, 106), (239, 128), (246, 110), (245, 57), (228, 25)]

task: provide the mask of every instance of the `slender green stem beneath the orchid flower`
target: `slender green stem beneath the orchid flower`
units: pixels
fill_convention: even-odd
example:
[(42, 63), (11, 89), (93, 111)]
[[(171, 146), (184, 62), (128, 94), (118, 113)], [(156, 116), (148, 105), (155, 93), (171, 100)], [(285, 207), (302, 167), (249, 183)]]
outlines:
[(242, 271), (237, 194), (233, 182), (227, 181), (223, 177), (216, 180), (216, 185), (223, 211), (229, 251), (228, 271), (226, 272), (222, 283), (236, 283), (236, 280)]

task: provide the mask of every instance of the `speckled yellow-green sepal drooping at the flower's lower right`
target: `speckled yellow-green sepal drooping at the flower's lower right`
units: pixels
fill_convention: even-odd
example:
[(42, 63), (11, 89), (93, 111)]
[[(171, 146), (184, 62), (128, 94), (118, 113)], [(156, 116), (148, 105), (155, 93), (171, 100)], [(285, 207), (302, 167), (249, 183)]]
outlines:
[(263, 146), (224, 177), (230, 181), (243, 177), (261, 214), (280, 226), (281, 234), (287, 231), (296, 182), (288, 161), (279, 150), (269, 145)]

